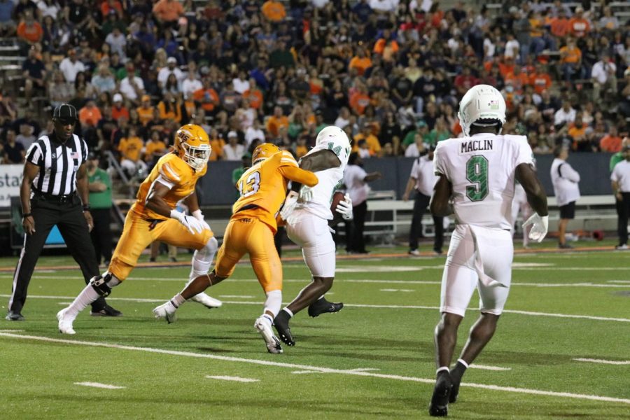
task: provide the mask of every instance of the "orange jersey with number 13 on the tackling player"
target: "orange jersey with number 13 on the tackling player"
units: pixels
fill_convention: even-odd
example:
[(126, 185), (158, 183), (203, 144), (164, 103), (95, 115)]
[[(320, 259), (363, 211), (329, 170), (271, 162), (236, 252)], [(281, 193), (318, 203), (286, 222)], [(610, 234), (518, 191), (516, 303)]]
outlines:
[[(276, 214), (286, 197), (288, 181), (312, 187), (318, 179), (312, 172), (300, 169), (288, 151), (276, 153), (247, 169), (237, 182), (241, 197), (232, 206), (232, 219), (258, 218), (275, 233)], [(248, 205), (257, 207), (243, 209)]]

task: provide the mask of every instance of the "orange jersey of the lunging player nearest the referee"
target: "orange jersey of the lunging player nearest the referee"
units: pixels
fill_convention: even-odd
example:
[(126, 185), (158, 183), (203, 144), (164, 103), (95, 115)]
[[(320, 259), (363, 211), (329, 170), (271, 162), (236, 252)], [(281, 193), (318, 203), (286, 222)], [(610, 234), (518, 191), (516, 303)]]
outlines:
[(171, 190), (164, 196), (164, 200), (169, 204), (171, 209), (175, 209), (177, 202), (195, 192), (197, 179), (204, 176), (207, 170), (208, 165), (204, 166), (204, 169), (201, 171), (195, 171), (175, 153), (167, 153), (167, 155), (162, 156), (162, 158), (158, 160), (158, 163), (155, 164), (151, 170), (151, 174), (141, 183), (138, 195), (136, 196), (136, 202), (131, 210), (143, 218), (167, 219), (167, 217), (147, 209), (144, 205), (148, 192), (151, 190), (151, 186), (155, 180), (159, 177), (160, 181), (158, 182), (162, 182), (171, 187)]

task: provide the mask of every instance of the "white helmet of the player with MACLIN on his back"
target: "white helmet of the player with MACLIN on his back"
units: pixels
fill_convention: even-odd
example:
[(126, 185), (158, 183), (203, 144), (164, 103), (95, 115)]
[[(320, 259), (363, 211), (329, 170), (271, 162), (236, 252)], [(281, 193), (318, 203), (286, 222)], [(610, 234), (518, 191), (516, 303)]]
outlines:
[(505, 124), (505, 99), (490, 85), (470, 87), (459, 103), (459, 125), (464, 135), (470, 135), (470, 126), (490, 127), (500, 122), (499, 133)]

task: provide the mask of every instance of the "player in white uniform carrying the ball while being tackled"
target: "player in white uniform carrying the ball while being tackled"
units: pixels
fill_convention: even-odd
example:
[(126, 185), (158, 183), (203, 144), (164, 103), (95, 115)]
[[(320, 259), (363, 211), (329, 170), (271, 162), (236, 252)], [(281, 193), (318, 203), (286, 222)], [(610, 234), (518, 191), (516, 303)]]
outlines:
[[(344, 169), (350, 155), (350, 141), (344, 130), (334, 125), (325, 127), (315, 140), (315, 147), (300, 159), (302, 169), (317, 171), (319, 183), (314, 188), (300, 188), (300, 198), (293, 211), (283, 208), (286, 232), (295, 244), (302, 248), (302, 257), (311, 271), (312, 281), (304, 287), (274, 320), (279, 338), (289, 346), (295, 345), (289, 320), (305, 307), (309, 316), (316, 317), (328, 312), (340, 311), (343, 303), (328, 302), (324, 294), (335, 279), (335, 241), (328, 228), (332, 221), (330, 203), (332, 195), (344, 181)], [(294, 185), (292, 189), (299, 186)], [(335, 211), (344, 220), (352, 218), (352, 202), (346, 194)]]

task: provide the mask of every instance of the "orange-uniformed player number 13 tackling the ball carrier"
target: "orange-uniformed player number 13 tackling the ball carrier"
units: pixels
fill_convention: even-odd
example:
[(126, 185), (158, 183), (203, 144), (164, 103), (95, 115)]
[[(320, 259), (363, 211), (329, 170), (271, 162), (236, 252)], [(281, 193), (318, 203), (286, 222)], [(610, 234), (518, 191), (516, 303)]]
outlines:
[(270, 143), (260, 144), (251, 156), (252, 167), (237, 182), (240, 198), (232, 207), (232, 217), (225, 228), (223, 245), (210, 274), (198, 276), (181, 293), (153, 309), (158, 318), (175, 321), (177, 308), (210, 286), (227, 279), (235, 265), (246, 253), (267, 299), (262, 315), (254, 328), (265, 340), (269, 353), (282, 353), (279, 339), (274, 335), (272, 323), (282, 303), (282, 265), (274, 246), (277, 230), (276, 216), (286, 200), (288, 181), (316, 186), (315, 174), (297, 166), (293, 155), (280, 151)]

